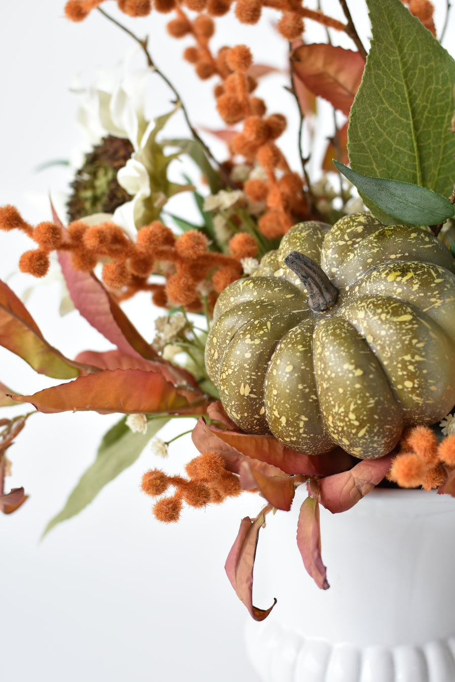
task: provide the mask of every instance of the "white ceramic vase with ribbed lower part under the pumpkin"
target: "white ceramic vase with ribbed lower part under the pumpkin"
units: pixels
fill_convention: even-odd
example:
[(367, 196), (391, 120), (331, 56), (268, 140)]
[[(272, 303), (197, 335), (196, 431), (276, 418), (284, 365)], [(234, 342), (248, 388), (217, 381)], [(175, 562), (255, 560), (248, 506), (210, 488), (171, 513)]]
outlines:
[(261, 679), (455, 682), (455, 499), (375, 489), (343, 514), (321, 509), (321, 591), (295, 542), (305, 494), (259, 537), (253, 602), (278, 598), (265, 621), (246, 623)]

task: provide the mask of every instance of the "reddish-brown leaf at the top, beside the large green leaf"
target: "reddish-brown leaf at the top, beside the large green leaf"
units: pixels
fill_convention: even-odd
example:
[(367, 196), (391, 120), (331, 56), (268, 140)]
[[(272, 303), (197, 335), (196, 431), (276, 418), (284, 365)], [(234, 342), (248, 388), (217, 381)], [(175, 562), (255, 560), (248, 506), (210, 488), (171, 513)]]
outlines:
[(365, 66), (358, 52), (314, 43), (294, 50), (292, 60), (293, 71), (314, 95), (349, 115)]

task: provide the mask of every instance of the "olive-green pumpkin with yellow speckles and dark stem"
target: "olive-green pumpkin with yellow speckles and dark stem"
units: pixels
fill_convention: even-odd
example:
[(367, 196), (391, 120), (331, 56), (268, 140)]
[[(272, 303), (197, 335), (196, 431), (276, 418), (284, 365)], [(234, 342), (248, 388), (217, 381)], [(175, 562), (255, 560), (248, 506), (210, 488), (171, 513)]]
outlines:
[(295, 225), (216, 303), (205, 362), (224, 409), (299, 452), (390, 452), (455, 404), (454, 273), (422, 228)]

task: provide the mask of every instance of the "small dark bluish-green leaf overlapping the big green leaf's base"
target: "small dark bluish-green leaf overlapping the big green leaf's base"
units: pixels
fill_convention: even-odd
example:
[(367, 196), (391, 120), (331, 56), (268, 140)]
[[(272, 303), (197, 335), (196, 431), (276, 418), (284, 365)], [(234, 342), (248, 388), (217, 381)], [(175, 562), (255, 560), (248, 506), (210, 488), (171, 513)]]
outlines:
[(410, 225), (437, 225), (454, 215), (450, 201), (432, 190), (409, 182), (361, 175), (336, 160), (334, 164), (362, 196), (374, 201), (387, 216)]

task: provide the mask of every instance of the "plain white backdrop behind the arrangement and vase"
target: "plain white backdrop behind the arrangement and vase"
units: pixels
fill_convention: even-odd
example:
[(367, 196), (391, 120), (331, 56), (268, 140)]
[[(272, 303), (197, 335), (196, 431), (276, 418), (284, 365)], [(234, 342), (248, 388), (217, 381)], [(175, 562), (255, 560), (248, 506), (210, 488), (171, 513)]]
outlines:
[[(32, 223), (48, 220), (47, 192), (55, 192), (58, 201), (58, 192), (68, 182), (64, 168), (39, 174), (33, 168), (48, 160), (70, 158), (80, 143), (70, 83), (78, 72), (89, 83), (98, 66), (115, 65), (132, 46), (128, 36), (97, 12), (81, 25), (69, 23), (63, 18), (63, 4), (64, 0), (23, 0), (2, 3), (0, 9), (0, 205), (16, 205)], [(350, 4), (355, 13), (363, 12), (360, 18), (368, 31), (364, 2), (351, 0)], [(445, 1), (435, 4), (441, 18)], [(116, 12), (115, 3), (103, 7), (125, 20)], [(334, 7), (341, 17), (335, 0), (324, 4), (327, 12)], [(271, 29), (272, 16), (263, 20), (261, 40), (256, 29), (221, 20), (214, 44), (247, 42), (253, 46), (256, 61), (284, 65), (284, 46)], [(128, 25), (138, 35), (149, 31), (151, 53), (177, 85), (192, 121), (222, 127), (214, 114), (211, 82), (196, 80), (192, 68), (177, 58), (183, 44), (167, 38), (165, 20), (153, 14), (153, 19), (128, 21)], [(447, 36), (453, 35), (453, 28), (452, 22)], [(320, 31), (314, 29), (310, 38), (315, 42), (322, 38)], [(349, 46), (349, 42), (344, 44)], [(450, 49), (450, 38), (446, 46)], [(291, 98), (280, 87), (284, 83), (282, 76), (270, 76), (261, 85), (271, 112), (291, 112)], [(153, 113), (163, 113), (168, 99), (157, 77)], [(293, 116), (289, 117), (291, 130), (283, 138), (291, 160), (297, 158)], [(181, 119), (175, 125), (175, 132), (185, 132)], [(212, 140), (207, 141), (220, 151)], [(175, 212), (190, 211), (184, 198), (178, 201), (172, 206)], [(18, 256), (29, 244), (20, 235), (0, 233), (0, 277), (12, 275), (8, 282), (18, 293), (32, 283), (31, 278), (14, 274)], [(59, 318), (57, 284), (38, 287), (27, 306), (46, 339), (65, 355), (108, 348), (77, 312)], [(139, 297), (126, 310), (151, 339), (153, 317), (159, 313), (146, 306), (147, 299)], [(58, 383), (35, 375), (3, 349), (0, 381), (25, 394)], [(18, 407), (4, 413), (23, 411)], [(205, 511), (187, 509), (179, 524), (159, 524), (151, 516), (149, 499), (138, 490), (143, 471), (162, 466), (146, 449), (83, 513), (59, 525), (40, 543), (46, 523), (91, 464), (102, 434), (115, 421), (116, 415), (91, 413), (35, 415), (10, 450), (13, 475), (8, 484), (24, 485), (31, 497), (15, 514), (0, 518), (2, 682), (255, 682), (242, 641), (248, 614), (223, 569), (240, 519), (256, 515), (261, 507), (255, 496), (245, 494)], [(178, 428), (183, 431), (191, 425), (179, 420)], [(164, 438), (174, 433), (170, 425)], [(195, 455), (186, 436), (171, 446), (164, 466), (177, 473)], [(263, 531), (258, 578), (261, 542), (267, 542), (266, 536)], [(274, 596), (279, 609), (278, 584), (273, 595), (259, 590), (254, 603), (266, 607)]]

